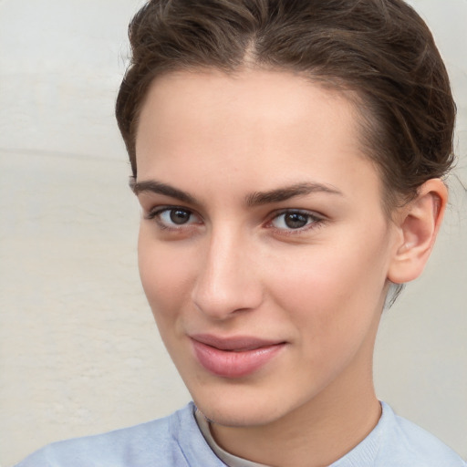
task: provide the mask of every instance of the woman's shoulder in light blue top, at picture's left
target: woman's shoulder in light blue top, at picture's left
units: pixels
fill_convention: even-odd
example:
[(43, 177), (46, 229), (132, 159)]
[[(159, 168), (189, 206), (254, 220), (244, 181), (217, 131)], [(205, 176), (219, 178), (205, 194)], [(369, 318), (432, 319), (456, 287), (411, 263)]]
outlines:
[(202, 451), (203, 442), (191, 403), (160, 420), (50, 444), (16, 467), (185, 467), (184, 450)]

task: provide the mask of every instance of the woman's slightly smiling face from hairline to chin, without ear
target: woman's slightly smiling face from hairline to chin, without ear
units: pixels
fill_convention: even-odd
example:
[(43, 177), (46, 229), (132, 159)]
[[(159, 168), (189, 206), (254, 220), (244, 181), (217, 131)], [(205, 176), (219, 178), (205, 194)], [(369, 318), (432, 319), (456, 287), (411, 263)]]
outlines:
[(150, 88), (140, 276), (208, 418), (265, 424), (371, 380), (393, 234), (357, 119), (287, 72), (181, 72)]

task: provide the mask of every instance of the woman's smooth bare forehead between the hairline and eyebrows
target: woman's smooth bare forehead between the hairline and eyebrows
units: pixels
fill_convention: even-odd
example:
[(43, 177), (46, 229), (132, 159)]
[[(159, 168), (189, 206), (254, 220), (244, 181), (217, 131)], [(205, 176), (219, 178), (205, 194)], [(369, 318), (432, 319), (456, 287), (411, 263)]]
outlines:
[(359, 166), (376, 177), (360, 150), (351, 101), (285, 71), (156, 78), (140, 112), (136, 154), (139, 180), (182, 181), (186, 173), (191, 184), (215, 175), (232, 185), (236, 174), (267, 190), (304, 177), (342, 182)]

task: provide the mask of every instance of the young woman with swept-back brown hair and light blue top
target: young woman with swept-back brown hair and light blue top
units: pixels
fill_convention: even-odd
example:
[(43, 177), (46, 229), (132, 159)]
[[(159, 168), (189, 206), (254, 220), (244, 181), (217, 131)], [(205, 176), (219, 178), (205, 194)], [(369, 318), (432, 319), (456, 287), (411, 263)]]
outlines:
[(19, 465), (464, 466), (380, 403), (379, 318), (426, 264), (455, 106), (400, 0), (150, 2), (117, 119), (140, 276), (194, 404)]

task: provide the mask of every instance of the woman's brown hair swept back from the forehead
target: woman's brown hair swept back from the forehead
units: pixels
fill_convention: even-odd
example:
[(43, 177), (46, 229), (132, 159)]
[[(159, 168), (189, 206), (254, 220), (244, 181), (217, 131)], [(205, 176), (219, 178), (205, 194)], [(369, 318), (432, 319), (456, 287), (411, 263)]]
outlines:
[(428, 26), (402, 0), (150, 0), (129, 28), (119, 130), (135, 138), (152, 80), (180, 69), (286, 69), (357, 96), (365, 152), (385, 202), (414, 196), (453, 163), (455, 104)]

